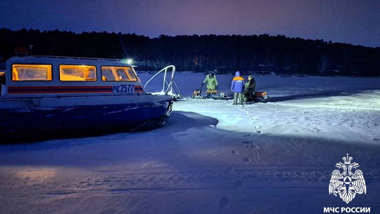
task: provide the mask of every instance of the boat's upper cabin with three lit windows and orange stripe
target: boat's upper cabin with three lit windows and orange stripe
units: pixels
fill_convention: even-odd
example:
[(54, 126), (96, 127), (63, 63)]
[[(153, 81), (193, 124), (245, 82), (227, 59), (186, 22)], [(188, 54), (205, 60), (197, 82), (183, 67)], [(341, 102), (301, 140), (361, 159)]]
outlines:
[(2, 97), (145, 93), (125, 60), (27, 56), (6, 65)]

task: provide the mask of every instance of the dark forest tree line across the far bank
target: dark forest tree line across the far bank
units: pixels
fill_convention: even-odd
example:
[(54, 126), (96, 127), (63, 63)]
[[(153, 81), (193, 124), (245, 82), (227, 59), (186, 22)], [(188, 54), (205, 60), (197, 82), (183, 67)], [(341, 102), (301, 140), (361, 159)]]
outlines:
[[(177, 70), (380, 75), (380, 47), (288, 38), (283, 35), (181, 35), (149, 38), (136, 34), (0, 29), (0, 56), (33, 45), (33, 55), (131, 58), (138, 70), (175, 65)], [(261, 65), (261, 66), (260, 66)]]

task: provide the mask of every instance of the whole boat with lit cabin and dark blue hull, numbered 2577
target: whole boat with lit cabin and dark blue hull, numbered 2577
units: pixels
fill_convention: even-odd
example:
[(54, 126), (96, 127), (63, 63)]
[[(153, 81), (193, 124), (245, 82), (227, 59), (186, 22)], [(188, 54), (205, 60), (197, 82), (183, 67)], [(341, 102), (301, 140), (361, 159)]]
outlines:
[(50, 56), (7, 61), (0, 135), (134, 130), (165, 124), (173, 97), (146, 93), (125, 60)]

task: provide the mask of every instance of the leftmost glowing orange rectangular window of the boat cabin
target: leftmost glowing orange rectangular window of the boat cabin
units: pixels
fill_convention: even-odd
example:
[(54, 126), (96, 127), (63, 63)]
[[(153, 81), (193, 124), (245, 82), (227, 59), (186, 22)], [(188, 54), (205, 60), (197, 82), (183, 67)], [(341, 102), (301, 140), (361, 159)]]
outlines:
[(12, 65), (12, 81), (51, 81), (51, 65)]

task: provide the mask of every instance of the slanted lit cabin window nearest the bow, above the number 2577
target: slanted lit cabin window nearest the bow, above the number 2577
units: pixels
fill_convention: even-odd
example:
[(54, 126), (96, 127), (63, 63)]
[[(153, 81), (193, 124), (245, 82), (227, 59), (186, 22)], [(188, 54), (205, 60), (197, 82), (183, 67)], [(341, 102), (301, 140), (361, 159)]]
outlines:
[(137, 81), (130, 67), (119, 66), (102, 66), (101, 79), (102, 81)]

